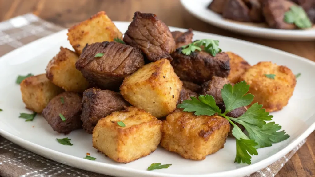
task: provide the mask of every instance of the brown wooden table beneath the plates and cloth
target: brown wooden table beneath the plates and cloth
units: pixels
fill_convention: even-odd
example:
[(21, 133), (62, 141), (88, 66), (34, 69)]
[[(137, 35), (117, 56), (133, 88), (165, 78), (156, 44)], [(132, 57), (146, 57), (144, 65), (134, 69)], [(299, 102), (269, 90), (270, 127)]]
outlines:
[[(168, 26), (193, 28), (260, 43), (315, 61), (315, 41), (278, 41), (234, 34), (193, 17), (179, 0), (0, 0), (0, 21), (33, 12), (44, 20), (70, 27), (101, 10), (117, 21), (131, 21), (135, 11), (155, 13)], [(276, 177), (314, 177), (314, 154), (315, 131)]]

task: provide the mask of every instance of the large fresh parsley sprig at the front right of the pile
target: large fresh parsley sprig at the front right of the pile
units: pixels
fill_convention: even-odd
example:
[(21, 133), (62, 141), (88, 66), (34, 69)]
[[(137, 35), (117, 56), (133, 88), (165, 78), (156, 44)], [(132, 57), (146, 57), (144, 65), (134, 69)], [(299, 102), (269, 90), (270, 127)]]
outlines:
[[(226, 111), (221, 113), (219, 107), (215, 104), (215, 99), (211, 95), (200, 95), (197, 98), (191, 97), (192, 100), (185, 100), (178, 108), (184, 108), (184, 111), (195, 112), (195, 115), (212, 116), (218, 114), (226, 118), (232, 125), (232, 134), (236, 138), (236, 157), (235, 162), (251, 163), (251, 156), (258, 155), (256, 149), (261, 147), (272, 146), (289, 138), (288, 134), (281, 129), (281, 126), (274, 122), (266, 123), (272, 120), (272, 115), (262, 109), (262, 105), (254, 103), (240, 117), (228, 117), (226, 114), (236, 108), (248, 106), (254, 100), (254, 95), (247, 94), (249, 85), (245, 81), (239, 82), (232, 86), (225, 84), (221, 89), (222, 99), (226, 106)], [(245, 127), (248, 136), (234, 123), (239, 123)]]

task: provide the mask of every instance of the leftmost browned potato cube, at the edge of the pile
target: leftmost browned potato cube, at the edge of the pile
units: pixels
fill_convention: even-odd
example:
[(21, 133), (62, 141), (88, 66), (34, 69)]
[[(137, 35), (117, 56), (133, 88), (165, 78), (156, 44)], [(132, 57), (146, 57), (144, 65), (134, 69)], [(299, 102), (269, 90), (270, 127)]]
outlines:
[(49, 101), (64, 91), (51, 83), (45, 74), (27, 77), (20, 86), (26, 108), (37, 113), (42, 113)]

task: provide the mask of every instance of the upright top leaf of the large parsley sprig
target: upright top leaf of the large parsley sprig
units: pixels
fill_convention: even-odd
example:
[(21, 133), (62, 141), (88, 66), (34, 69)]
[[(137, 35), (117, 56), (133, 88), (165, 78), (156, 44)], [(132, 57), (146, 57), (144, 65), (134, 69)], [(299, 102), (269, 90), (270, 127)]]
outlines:
[(233, 111), (242, 106), (248, 106), (253, 100), (254, 95), (246, 94), (249, 91), (249, 85), (245, 81), (232, 85), (225, 84), (221, 89), (222, 99), (226, 106), (225, 113)]

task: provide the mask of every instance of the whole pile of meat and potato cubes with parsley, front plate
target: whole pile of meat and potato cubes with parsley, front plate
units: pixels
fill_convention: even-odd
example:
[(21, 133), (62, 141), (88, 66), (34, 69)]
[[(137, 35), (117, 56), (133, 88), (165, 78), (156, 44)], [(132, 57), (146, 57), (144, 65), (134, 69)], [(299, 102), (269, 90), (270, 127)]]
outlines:
[[(120, 163), (159, 145), (203, 160), (228, 135), (236, 138), (235, 161), (250, 163), (257, 148), (289, 138), (266, 123), (272, 120), (266, 111), (281, 110), (293, 94), (296, 79), (286, 66), (250, 66), (222, 52), (217, 40), (192, 42), (192, 29), (171, 32), (155, 14), (135, 12), (122, 35), (99, 12), (67, 35), (75, 51), (60, 47), (45, 74), (19, 78), (26, 108), (34, 111), (21, 115), (27, 121), (38, 113), (58, 133), (83, 128), (91, 146)], [(72, 146), (70, 140), (58, 142)]]

